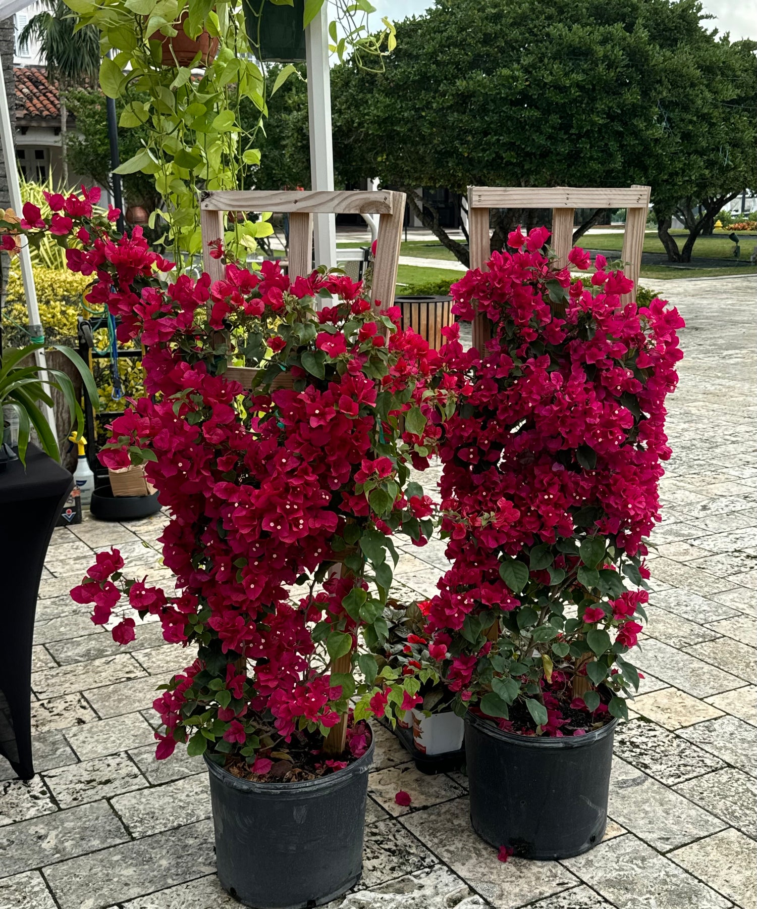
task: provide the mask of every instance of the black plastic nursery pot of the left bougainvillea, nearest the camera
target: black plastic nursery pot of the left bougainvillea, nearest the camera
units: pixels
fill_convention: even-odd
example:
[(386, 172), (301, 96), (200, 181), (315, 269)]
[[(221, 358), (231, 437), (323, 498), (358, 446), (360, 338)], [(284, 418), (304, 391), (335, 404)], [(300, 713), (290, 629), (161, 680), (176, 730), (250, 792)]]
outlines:
[(363, 873), (374, 742), (353, 764), (304, 783), (241, 780), (205, 758), (224, 890), (255, 909), (307, 909)]

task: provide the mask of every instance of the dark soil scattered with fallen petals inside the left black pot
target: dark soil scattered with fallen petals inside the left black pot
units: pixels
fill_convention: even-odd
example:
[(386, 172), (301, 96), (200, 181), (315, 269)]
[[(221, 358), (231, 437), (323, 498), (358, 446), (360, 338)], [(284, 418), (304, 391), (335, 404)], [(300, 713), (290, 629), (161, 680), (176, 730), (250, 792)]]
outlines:
[(227, 759), (224, 770), (255, 783), (304, 783), (354, 764), (368, 750), (372, 736), (371, 727), (363, 720), (354, 725), (351, 723), (347, 727), (344, 754), (333, 758), (324, 754), (324, 739), (320, 733), (295, 732), (290, 742), (278, 742), (270, 748), (258, 749), (255, 762), (267, 762), (258, 764), (261, 770), (265, 770), (264, 773), (253, 773), (252, 766), (239, 754)]

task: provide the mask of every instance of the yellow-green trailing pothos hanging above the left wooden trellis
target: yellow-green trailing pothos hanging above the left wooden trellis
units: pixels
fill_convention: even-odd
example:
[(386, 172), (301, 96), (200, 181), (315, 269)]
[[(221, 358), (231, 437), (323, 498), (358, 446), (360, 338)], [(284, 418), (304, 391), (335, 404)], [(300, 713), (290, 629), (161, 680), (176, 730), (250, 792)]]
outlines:
[[(265, 2), (281, 5), (281, 0)], [(292, 2), (284, 0), (284, 5)], [(154, 176), (164, 205), (151, 215), (150, 226), (164, 226), (164, 244), (173, 248), (177, 263), (186, 257), (191, 261), (202, 247), (199, 191), (250, 185), (252, 169), (260, 162), (254, 146), (267, 114), (265, 99), (295, 67), (284, 66), (269, 85), (266, 66), (256, 63), (250, 52), (239, 5), (220, 0), (65, 3), (78, 16), (79, 25), (95, 25), (100, 32), (104, 54), (100, 86), (108, 97), (126, 102), (119, 126), (146, 126), (148, 130), (144, 147), (117, 173), (141, 171)], [(323, 4), (324, 0), (307, 0), (304, 26)], [(384, 19), (383, 32), (369, 35), (366, 23), (356, 21), (355, 16), (371, 12), (374, 7), (367, 0), (337, 0), (329, 33), (334, 42), (331, 50), (340, 58), (352, 50), (366, 61), (366, 67), (369, 58), (383, 64), (383, 55), (394, 46), (394, 29)], [(186, 49), (187, 39), (196, 47), (191, 61), (177, 52), (180, 45)], [(254, 124), (246, 127), (240, 117), (243, 98), (249, 98), (258, 112)], [(272, 233), (265, 215), (255, 222), (233, 220), (225, 246), (244, 259), (254, 251), (258, 239)]]

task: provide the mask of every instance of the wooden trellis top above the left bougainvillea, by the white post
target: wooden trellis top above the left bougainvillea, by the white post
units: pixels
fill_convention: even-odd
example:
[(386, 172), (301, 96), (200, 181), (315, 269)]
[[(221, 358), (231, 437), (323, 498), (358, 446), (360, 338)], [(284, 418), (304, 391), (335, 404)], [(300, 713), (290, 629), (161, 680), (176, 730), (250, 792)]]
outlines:
[[(200, 194), (200, 230), (203, 236), (203, 265), (212, 281), (224, 277), (224, 265), (210, 255), (209, 244), (224, 237), (226, 212), (289, 213), (289, 276), (305, 277), (313, 271), (313, 215), (360, 214), (381, 215), (379, 220), (371, 302), (381, 312), (394, 304), (397, 267), (402, 242), (404, 193), (390, 190), (376, 192), (267, 192), (205, 191)], [(244, 366), (229, 367), (226, 375), (251, 386), (256, 370)]]

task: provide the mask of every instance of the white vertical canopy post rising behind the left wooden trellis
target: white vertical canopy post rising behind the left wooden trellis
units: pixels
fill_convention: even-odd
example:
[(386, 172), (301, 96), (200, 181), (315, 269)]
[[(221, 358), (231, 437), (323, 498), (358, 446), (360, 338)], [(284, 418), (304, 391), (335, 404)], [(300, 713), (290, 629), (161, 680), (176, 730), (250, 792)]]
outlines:
[[(328, 2), (305, 29), (307, 55), (307, 115), (310, 125), (310, 176), (313, 189), (334, 189), (334, 149), (331, 134), (331, 76), (329, 75)], [(336, 265), (334, 215), (314, 215), (315, 265)]]

